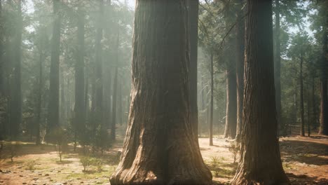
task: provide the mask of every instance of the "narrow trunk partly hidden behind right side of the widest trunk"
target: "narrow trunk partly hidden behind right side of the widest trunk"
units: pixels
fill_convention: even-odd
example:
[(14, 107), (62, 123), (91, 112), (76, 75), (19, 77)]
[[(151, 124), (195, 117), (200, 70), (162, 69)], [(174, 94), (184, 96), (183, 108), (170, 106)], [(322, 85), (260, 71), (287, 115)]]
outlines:
[(190, 118), (193, 135), (198, 142), (198, 107), (197, 107), (197, 57), (198, 57), (198, 0), (189, 0), (189, 39), (190, 39)]

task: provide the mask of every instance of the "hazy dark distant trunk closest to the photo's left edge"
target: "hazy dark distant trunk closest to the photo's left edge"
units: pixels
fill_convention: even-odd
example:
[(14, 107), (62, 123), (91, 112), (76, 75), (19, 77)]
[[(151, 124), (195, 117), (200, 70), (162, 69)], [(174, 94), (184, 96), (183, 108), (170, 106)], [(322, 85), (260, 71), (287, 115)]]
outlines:
[(22, 1), (17, 1), (17, 27), (13, 43), (13, 77), (11, 81), (11, 137), (19, 135), (22, 123), (22, 89), (21, 89), (21, 63), (22, 63)]

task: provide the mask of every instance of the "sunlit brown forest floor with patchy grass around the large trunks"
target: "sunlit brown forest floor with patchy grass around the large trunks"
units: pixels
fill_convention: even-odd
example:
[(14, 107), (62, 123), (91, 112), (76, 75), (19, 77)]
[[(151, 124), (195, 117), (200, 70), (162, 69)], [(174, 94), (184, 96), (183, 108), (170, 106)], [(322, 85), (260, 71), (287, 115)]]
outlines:
[[(91, 164), (86, 172), (81, 165), (82, 149), (78, 153), (70, 146), (60, 162), (55, 146), (20, 142), (19, 147), (13, 148), (7, 144), (0, 160), (0, 184), (109, 184), (122, 142), (123, 138), (118, 138), (109, 151), (89, 157), (101, 161), (102, 165)], [(208, 138), (199, 139), (200, 151), (212, 171), (213, 181), (228, 184), (237, 167), (229, 151), (231, 144), (219, 137), (214, 138), (214, 146), (208, 146), (208, 142)], [(8, 158), (11, 149), (17, 149), (13, 162)], [(282, 137), (280, 149), (283, 167), (292, 184), (328, 184), (328, 137)]]

